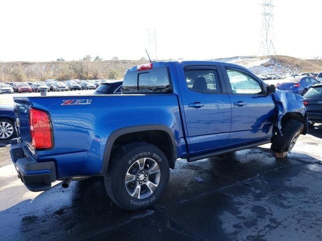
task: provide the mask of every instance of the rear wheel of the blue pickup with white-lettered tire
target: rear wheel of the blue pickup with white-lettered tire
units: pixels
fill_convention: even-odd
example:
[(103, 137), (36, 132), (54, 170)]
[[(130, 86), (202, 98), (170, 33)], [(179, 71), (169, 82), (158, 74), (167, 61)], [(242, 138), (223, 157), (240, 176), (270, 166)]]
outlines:
[(145, 142), (132, 143), (113, 155), (104, 184), (109, 197), (118, 206), (136, 211), (158, 201), (168, 184), (169, 175), (169, 162), (160, 149)]

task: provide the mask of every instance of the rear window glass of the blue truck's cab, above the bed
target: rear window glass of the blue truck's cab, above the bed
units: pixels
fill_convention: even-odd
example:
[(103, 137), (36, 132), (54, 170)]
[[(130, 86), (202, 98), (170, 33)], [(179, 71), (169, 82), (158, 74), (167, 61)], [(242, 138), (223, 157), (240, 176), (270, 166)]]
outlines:
[(170, 81), (167, 68), (129, 72), (123, 80), (123, 93), (169, 92)]

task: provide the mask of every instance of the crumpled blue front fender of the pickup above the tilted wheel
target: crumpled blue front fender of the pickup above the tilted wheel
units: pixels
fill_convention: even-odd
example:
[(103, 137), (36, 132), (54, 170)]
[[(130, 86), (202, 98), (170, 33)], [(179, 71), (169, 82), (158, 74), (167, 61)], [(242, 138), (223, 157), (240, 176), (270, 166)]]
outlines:
[(303, 104), (305, 98), (299, 94), (294, 94), (286, 91), (276, 90), (273, 93), (273, 100), (275, 103), (276, 118), (275, 127), (278, 129), (280, 135), (282, 135), (283, 117), (289, 116), (296, 118), (304, 124), (302, 134), (305, 135), (308, 129), (308, 119), (306, 116), (306, 109)]

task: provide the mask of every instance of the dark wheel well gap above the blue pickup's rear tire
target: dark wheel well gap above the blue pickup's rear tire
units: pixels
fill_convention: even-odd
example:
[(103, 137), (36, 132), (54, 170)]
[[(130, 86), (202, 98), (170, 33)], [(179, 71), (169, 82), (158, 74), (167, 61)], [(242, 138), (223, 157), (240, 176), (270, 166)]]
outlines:
[(174, 146), (171, 137), (165, 131), (153, 130), (124, 134), (114, 141), (110, 157), (122, 146), (133, 142), (146, 142), (158, 147), (166, 155), (170, 168), (175, 168)]

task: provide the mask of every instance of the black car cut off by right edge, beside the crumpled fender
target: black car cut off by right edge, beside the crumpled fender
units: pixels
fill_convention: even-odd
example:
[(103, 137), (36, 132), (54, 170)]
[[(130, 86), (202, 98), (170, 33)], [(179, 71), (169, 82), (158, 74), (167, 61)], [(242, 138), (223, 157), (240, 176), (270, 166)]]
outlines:
[(310, 126), (322, 123), (322, 83), (313, 85), (305, 94), (303, 101)]

